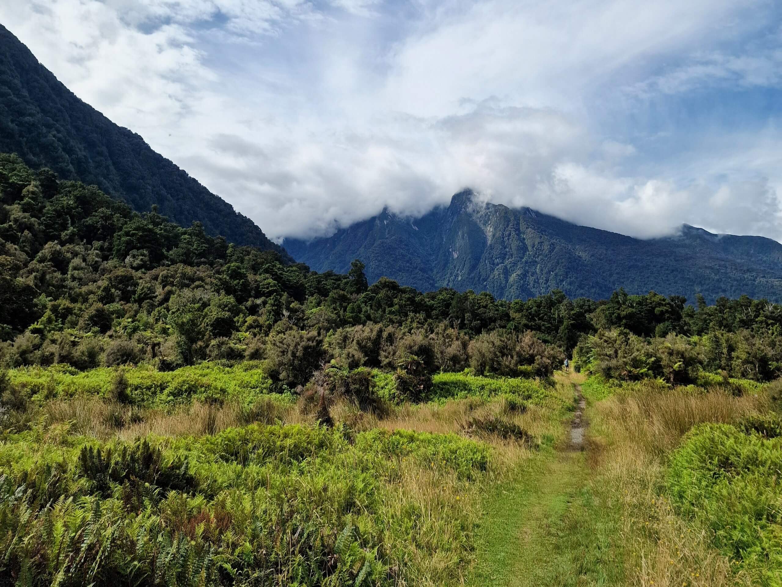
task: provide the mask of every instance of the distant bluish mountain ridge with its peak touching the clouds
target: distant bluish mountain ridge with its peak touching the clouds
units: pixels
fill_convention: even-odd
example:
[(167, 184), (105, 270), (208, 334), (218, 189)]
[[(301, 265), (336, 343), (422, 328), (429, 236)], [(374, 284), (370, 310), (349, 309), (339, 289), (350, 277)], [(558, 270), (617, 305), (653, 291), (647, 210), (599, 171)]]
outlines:
[(315, 271), (346, 272), (358, 258), (370, 282), (382, 276), (419, 290), (488, 290), (527, 298), (630, 293), (765, 297), (782, 301), (782, 244), (683, 226), (679, 236), (640, 240), (579, 226), (529, 208), (476, 203), (467, 190), (447, 207), (410, 220), (384, 210), (327, 238), (285, 239)]

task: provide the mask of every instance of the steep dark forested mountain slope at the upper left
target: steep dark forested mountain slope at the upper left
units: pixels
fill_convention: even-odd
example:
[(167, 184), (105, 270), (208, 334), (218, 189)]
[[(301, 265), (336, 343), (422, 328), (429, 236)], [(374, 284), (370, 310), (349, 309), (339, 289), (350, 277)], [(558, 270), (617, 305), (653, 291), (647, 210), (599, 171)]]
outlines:
[(276, 250), (290, 260), (231, 204), (77, 98), (2, 25), (0, 153), (17, 153), (30, 167), (51, 167), (62, 179), (98, 185), (136, 211), (156, 204), (179, 225), (200, 221), (213, 236)]

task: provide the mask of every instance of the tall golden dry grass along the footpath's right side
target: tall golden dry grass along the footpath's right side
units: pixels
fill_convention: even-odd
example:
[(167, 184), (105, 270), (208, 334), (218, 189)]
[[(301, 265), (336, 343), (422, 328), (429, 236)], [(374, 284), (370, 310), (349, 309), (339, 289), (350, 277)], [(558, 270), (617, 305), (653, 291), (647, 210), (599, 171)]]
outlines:
[(698, 423), (731, 423), (766, 408), (764, 395), (735, 398), (720, 391), (689, 394), (652, 387), (591, 406), (595, 484), (621, 505), (627, 585), (750, 585), (746, 576), (731, 571), (730, 560), (709, 544), (703, 528), (673, 512), (663, 486), (665, 455)]

